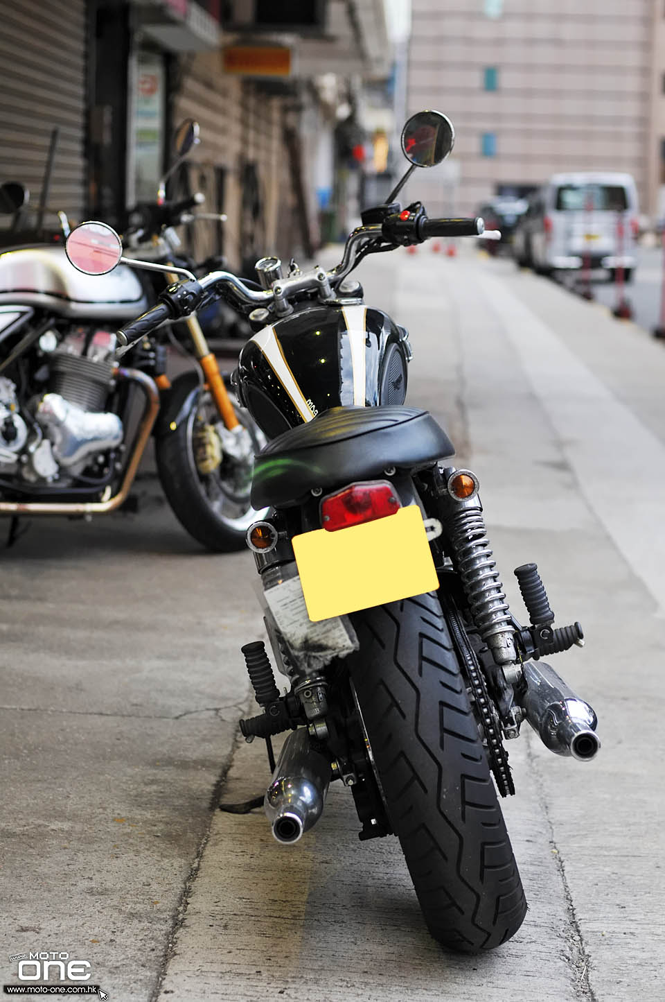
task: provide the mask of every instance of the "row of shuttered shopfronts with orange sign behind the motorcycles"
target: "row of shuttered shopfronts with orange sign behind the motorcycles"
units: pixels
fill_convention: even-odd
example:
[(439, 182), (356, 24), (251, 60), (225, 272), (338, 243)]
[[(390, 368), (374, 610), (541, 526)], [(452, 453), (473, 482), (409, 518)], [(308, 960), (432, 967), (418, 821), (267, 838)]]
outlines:
[(385, 2), (18, 0), (0, 33), (0, 182), (25, 183), (26, 218), (51, 229), (57, 210), (122, 227), (191, 117), (201, 141), (167, 196), (201, 190), (227, 216), (185, 229), (195, 257), (247, 274), (266, 253), (309, 256), (344, 95), (390, 73)]

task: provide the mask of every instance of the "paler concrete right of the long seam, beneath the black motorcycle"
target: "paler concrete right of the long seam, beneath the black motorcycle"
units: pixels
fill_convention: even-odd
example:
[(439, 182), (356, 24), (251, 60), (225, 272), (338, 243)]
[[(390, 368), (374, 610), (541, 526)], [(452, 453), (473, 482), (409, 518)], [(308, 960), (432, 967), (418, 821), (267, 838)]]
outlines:
[[(409, 400), (480, 474), (516, 613), (512, 568), (533, 559), (558, 621), (583, 622), (586, 649), (554, 661), (597, 709), (604, 746), (581, 765), (527, 726), (510, 746), (518, 793), (504, 807), (530, 910), (489, 956), (436, 947), (395, 840), (359, 843), (344, 791), (292, 849), (259, 812), (217, 815), (158, 997), (656, 999), (665, 591), (645, 554), (663, 539), (651, 502), (665, 486), (665, 353), (504, 262), (399, 252), (360, 277), (367, 302), (411, 331)], [(266, 779), (259, 749), (242, 746), (222, 795)]]

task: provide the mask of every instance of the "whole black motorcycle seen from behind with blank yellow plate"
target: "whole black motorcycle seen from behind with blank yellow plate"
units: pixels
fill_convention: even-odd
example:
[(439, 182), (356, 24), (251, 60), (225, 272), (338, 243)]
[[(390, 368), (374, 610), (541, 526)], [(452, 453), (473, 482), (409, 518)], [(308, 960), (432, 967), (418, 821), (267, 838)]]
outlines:
[[(425, 111), (402, 138), (409, 176), (440, 162), (454, 131)], [(592, 708), (540, 662), (581, 644), (579, 623), (555, 628), (535, 564), (516, 570), (530, 625), (511, 614), (478, 477), (452, 465), (430, 414), (404, 406), (407, 331), (350, 278), (369, 254), (484, 232), (480, 218), (403, 209), (405, 180), (363, 213), (331, 271), (284, 278), (263, 259), (260, 291), (225, 273), (183, 282), (118, 337), (129, 346), (218, 296), (255, 326), (235, 382), (269, 439), (251, 488), (269, 511), (247, 542), (289, 680), (280, 695), (263, 643), (242, 648), (261, 707), (242, 733), (270, 755), (271, 736), (290, 731), (265, 813), (275, 839), (295, 843), (329, 783), (348, 786), (360, 838), (399, 837), (433, 936), (472, 953), (510, 939), (527, 908), (497, 796), (514, 793), (504, 741), (526, 719), (558, 755), (589, 761), (600, 742)], [(97, 252), (100, 268), (116, 253)]]

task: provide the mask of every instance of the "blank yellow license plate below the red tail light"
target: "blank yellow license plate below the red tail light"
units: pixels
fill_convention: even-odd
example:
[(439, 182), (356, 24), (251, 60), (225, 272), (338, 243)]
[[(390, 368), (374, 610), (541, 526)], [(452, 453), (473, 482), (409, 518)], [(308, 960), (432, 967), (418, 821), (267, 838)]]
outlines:
[(337, 532), (303, 532), (292, 543), (312, 622), (439, 587), (418, 505)]

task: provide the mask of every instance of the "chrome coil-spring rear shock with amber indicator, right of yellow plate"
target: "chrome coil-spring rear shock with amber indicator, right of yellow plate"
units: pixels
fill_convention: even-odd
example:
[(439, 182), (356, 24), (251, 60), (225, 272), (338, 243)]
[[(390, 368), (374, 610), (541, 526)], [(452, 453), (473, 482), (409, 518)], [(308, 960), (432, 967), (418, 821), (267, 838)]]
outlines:
[(517, 659), (513, 619), (493, 557), (478, 478), (470, 470), (445, 470), (450, 503), (446, 527), (473, 620), (497, 664)]

